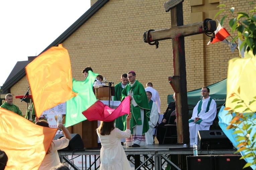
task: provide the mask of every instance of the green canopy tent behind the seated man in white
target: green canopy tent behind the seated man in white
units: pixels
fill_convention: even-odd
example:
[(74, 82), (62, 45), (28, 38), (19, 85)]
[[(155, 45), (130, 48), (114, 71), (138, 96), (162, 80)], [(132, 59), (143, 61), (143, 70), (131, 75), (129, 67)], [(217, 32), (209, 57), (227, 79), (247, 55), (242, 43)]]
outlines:
[[(217, 82), (215, 84), (211, 84), (207, 86), (210, 89), (209, 96), (216, 101), (217, 105), (217, 115), (215, 118), (215, 124), (218, 125), (218, 113), (222, 105), (226, 102), (226, 96), (227, 96), (227, 79), (224, 79), (220, 82)], [(173, 101), (172, 98), (173, 95), (167, 96), (167, 103), (169, 104), (171, 101)], [(201, 88), (192, 90), (187, 92), (187, 102), (188, 102), (188, 118), (190, 119), (193, 113), (193, 109), (197, 102), (202, 99), (201, 96)]]

